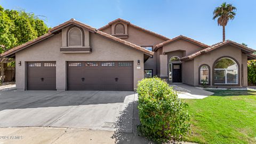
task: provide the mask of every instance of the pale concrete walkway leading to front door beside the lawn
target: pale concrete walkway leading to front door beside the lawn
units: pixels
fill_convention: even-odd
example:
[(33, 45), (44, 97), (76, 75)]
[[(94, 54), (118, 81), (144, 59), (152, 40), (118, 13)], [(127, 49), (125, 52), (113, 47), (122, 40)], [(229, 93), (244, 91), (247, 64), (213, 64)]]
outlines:
[(197, 87), (187, 84), (171, 84), (170, 86), (178, 92), (180, 99), (203, 99), (214, 94), (213, 92), (198, 89)]

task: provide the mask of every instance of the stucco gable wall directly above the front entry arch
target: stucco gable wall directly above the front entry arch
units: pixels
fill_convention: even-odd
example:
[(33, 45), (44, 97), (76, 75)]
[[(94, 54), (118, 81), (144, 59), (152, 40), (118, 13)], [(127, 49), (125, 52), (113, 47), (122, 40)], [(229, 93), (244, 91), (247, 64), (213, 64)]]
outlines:
[(182, 54), (182, 57), (185, 57), (188, 54), (195, 53), (203, 49), (203, 47), (198, 46), (196, 44), (190, 43), (183, 39), (179, 39), (178, 41), (172, 42), (170, 44), (163, 46), (163, 52), (172, 52), (172, 51), (185, 51)]

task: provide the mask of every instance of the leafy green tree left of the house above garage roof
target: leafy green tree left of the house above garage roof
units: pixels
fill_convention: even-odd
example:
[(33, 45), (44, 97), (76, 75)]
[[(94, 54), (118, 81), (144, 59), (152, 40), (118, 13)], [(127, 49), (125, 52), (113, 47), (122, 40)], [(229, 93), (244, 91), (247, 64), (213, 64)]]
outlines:
[(0, 53), (47, 33), (44, 20), (25, 10), (4, 10), (0, 5)]

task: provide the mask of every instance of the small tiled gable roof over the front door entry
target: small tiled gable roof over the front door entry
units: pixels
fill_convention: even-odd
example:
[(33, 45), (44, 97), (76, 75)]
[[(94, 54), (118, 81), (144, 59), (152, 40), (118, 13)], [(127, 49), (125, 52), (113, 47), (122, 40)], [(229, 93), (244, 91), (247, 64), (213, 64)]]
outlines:
[(180, 35), (180, 36), (174, 37), (172, 39), (169, 39), (169, 40), (167, 40), (167, 41), (165, 41), (163, 43), (157, 44), (155, 49), (154, 49), (154, 51), (156, 51), (157, 49), (159, 49), (160, 47), (162, 47), (164, 45), (167, 45), (167, 44), (170, 44), (172, 42), (178, 41), (179, 39), (184, 39), (185, 41), (188, 41), (188, 42), (194, 43), (196, 45), (202, 46), (203, 48), (209, 47), (209, 45), (206, 45), (206, 44), (203, 44), (201, 42), (198, 42), (195, 39), (192, 39), (192, 38)]

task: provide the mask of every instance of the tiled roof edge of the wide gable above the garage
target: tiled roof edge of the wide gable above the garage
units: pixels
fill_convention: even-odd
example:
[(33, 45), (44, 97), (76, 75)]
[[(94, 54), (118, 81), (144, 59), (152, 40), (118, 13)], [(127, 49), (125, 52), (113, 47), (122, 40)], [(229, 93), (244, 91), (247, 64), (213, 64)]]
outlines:
[(40, 36), (40, 37), (38, 37), (36, 39), (33, 39), (32, 41), (29, 41), (29, 42), (27, 42), (25, 44), (19, 45), (17, 47), (12, 48), (9, 51), (6, 51), (6, 52), (2, 53), (1, 57), (7, 57), (9, 55), (12, 55), (12, 54), (18, 52), (18, 51), (21, 51), (21, 50), (25, 49), (26, 47), (29, 47), (31, 45), (34, 45), (34, 44), (38, 43), (38, 42), (41, 42), (44, 39), (49, 38), (49, 37), (55, 35), (62, 28), (65, 28), (65, 27), (70, 26), (70, 25), (82, 26), (82, 27), (92, 31), (95, 34), (99, 34), (99, 35), (104, 36), (106, 38), (112, 39), (113, 41), (116, 41), (118, 43), (122, 43), (124, 45), (130, 46), (130, 47), (132, 47), (134, 49), (137, 49), (139, 51), (142, 51), (142, 52), (144, 52), (146, 54), (149, 54), (149, 55), (153, 55), (154, 54), (154, 52), (148, 51), (148, 50), (146, 50), (146, 49), (144, 49), (144, 48), (142, 48), (142, 47), (140, 47), (138, 45), (132, 44), (130, 42), (124, 41), (123, 39), (120, 39), (120, 38), (111, 36), (109, 34), (106, 34), (106, 33), (102, 32), (102, 31), (99, 31), (99, 30), (91, 27), (91, 26), (85, 25), (84, 23), (79, 22), (79, 21), (77, 21), (75, 19), (70, 19), (69, 21), (66, 21), (66, 22), (62, 23), (59, 26), (53, 27), (52, 29), (49, 30), (49, 32), (47, 34), (45, 34), (43, 36)]

